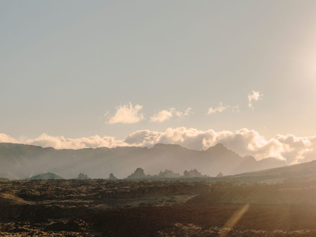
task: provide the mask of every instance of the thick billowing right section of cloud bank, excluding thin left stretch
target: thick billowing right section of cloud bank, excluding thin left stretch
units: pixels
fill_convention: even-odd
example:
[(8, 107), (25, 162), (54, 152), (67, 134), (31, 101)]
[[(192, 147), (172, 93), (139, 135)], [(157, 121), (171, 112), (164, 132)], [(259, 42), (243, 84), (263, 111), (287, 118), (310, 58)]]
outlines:
[(185, 127), (168, 128), (165, 132), (142, 130), (132, 133), (124, 142), (147, 147), (152, 147), (155, 143), (172, 143), (196, 150), (205, 150), (217, 143), (223, 143), (241, 156), (252, 155), (257, 160), (276, 157), (286, 160), (288, 164), (311, 161), (316, 155), (316, 136), (295, 137), (288, 134), (265, 140), (257, 131), (246, 128), (235, 132), (216, 132), (212, 129), (200, 131)]

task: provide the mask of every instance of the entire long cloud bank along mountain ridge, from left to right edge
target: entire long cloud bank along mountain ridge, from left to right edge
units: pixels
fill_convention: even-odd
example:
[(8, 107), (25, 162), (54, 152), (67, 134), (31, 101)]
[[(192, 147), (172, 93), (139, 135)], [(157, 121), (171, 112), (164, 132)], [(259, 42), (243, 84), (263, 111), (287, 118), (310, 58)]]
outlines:
[(96, 147), (141, 146), (153, 147), (155, 143), (179, 144), (188, 149), (206, 150), (217, 143), (237, 154), (252, 155), (257, 160), (276, 157), (288, 164), (312, 161), (316, 158), (316, 136), (296, 137), (295, 135), (276, 135), (270, 140), (264, 139), (257, 131), (246, 128), (238, 131), (219, 131), (212, 129), (201, 131), (194, 128), (168, 128), (164, 132), (140, 130), (131, 133), (124, 140), (115, 137), (82, 137), (77, 139), (63, 136), (53, 137), (45, 133), (35, 139), (20, 137), (15, 139), (0, 133), (0, 142), (24, 143), (55, 149), (82, 149)]

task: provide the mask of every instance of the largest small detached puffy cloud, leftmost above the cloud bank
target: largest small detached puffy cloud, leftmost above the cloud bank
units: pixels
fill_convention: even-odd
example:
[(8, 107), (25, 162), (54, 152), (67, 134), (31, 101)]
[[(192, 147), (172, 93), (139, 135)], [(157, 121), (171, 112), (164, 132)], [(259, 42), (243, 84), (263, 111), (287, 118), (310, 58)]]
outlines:
[(138, 113), (143, 108), (143, 106), (135, 105), (133, 107), (133, 105), (130, 102), (129, 105), (120, 105), (115, 108), (116, 108), (116, 113), (114, 116), (110, 118), (109, 124), (116, 124), (116, 123), (132, 124), (132, 123), (137, 123), (140, 120), (144, 119), (143, 114)]

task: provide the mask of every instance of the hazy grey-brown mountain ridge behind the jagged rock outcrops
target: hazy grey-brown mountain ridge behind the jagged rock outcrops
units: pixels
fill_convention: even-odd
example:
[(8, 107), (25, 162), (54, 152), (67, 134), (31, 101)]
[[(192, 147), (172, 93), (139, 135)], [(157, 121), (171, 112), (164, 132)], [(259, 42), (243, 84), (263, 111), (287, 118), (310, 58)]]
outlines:
[(107, 178), (115, 173), (118, 178), (125, 178), (137, 167), (150, 174), (166, 169), (182, 173), (196, 168), (202, 174), (215, 177), (219, 172), (231, 175), (284, 166), (285, 162), (275, 158), (256, 161), (252, 156), (241, 157), (221, 143), (205, 151), (161, 143), (151, 149), (99, 147), (78, 150), (0, 143), (0, 164), (0, 177), (3, 178), (25, 179), (51, 172), (70, 179), (78, 173), (88, 173), (91, 178)]

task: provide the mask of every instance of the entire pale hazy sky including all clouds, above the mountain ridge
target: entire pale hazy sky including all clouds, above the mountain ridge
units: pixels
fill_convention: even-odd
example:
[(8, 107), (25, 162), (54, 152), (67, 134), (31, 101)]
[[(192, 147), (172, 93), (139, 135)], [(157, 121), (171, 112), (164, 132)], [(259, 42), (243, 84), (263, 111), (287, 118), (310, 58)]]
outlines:
[(313, 159), (315, 12), (307, 0), (0, 0), (0, 142), (222, 142)]

